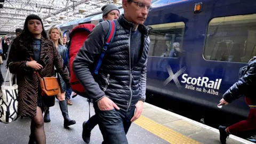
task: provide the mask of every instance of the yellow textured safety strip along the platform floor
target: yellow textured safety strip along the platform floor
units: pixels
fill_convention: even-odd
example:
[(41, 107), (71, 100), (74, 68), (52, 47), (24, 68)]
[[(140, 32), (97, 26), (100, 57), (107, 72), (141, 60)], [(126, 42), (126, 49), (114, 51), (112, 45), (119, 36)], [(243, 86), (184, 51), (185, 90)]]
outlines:
[(134, 123), (172, 144), (200, 143), (142, 115)]

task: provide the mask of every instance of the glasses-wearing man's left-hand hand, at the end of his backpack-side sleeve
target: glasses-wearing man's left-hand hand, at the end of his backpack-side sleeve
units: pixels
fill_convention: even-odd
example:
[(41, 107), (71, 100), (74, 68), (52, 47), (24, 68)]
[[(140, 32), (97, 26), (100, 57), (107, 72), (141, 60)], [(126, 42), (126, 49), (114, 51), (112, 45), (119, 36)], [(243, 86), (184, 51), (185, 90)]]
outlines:
[(112, 100), (110, 100), (106, 96), (103, 97), (102, 99), (100, 99), (97, 103), (98, 103), (99, 109), (102, 110), (102, 111), (104, 111), (104, 110), (112, 110), (114, 108), (119, 110), (119, 107), (116, 105), (116, 103), (114, 103)]

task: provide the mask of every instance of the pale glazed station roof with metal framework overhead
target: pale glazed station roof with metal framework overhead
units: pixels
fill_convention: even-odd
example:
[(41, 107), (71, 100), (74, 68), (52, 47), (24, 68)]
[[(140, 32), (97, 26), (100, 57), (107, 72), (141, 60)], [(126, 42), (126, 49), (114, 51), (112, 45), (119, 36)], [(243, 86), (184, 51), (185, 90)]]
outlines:
[(39, 15), (44, 26), (52, 26), (101, 12), (101, 7), (109, 3), (122, 6), (122, 0), (5, 0), (0, 9), (0, 31), (23, 28), (29, 14)]

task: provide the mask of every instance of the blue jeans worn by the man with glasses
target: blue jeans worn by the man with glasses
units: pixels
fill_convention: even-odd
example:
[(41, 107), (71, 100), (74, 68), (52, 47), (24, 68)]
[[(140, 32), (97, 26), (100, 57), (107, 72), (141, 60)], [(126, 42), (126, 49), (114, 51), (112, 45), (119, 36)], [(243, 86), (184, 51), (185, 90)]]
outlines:
[(95, 112), (97, 112), (96, 114), (99, 118), (99, 127), (104, 140), (102, 143), (128, 143), (126, 134), (132, 124), (131, 119), (134, 115), (134, 110), (135, 106), (130, 107), (128, 111), (121, 109), (102, 111), (97, 106)]

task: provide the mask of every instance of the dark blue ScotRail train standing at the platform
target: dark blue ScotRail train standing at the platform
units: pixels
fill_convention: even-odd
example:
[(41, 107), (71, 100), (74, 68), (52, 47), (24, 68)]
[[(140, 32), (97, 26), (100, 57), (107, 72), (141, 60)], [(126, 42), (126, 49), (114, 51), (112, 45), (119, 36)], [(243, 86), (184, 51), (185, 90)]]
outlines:
[[(245, 118), (249, 108), (243, 98), (222, 109), (217, 105), (238, 80), (239, 68), (256, 53), (255, 0), (165, 0), (152, 4), (145, 22), (153, 28), (147, 100), (166, 109), (176, 105), (206, 122), (229, 114)], [(98, 13), (57, 26), (71, 30), (81, 23), (97, 24), (101, 18)]]

